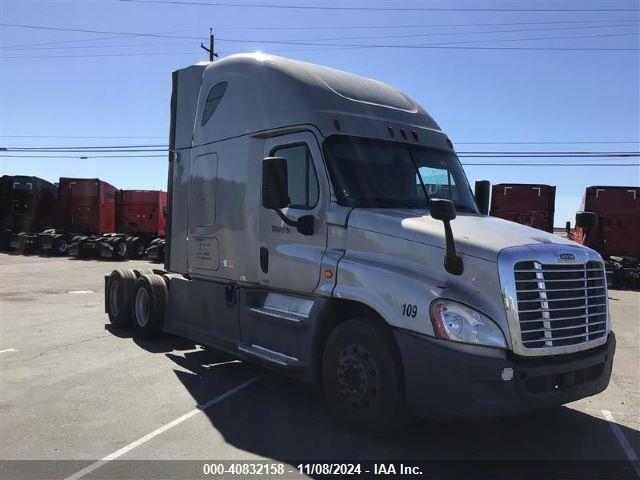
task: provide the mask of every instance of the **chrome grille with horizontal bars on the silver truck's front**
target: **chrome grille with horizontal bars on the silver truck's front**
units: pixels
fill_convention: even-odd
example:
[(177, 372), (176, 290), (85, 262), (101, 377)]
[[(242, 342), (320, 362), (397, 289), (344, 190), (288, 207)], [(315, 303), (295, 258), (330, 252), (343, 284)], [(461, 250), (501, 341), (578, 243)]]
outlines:
[(563, 347), (603, 338), (607, 288), (602, 262), (514, 265), (522, 345)]

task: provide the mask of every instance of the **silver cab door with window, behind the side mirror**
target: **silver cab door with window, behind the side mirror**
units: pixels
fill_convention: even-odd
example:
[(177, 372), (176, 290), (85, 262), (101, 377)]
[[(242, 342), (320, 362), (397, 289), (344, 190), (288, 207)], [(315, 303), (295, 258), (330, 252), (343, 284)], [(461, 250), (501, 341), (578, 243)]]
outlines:
[(273, 289), (311, 293), (320, 279), (329, 203), (329, 183), (318, 141), (311, 132), (273, 137), (265, 141), (263, 157), (287, 160), (291, 202), (282, 212), (292, 220), (311, 215), (314, 228), (312, 235), (303, 235), (260, 204), (258, 279)]

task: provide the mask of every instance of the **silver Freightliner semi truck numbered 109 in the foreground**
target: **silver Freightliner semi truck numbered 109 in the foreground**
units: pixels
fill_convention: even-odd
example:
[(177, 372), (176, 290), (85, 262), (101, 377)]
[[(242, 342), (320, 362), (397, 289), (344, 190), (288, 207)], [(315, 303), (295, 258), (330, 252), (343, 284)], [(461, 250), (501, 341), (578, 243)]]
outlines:
[(164, 267), (105, 276), (115, 327), (318, 385), (374, 433), (607, 387), (602, 257), (488, 216), (488, 182), (401, 91), (233, 55), (173, 73), (169, 145)]

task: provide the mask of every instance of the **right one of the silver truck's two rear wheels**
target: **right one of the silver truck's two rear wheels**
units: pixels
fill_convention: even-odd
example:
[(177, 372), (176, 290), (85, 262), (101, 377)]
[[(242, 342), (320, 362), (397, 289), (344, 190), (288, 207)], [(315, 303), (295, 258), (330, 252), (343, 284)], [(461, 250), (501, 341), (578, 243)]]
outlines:
[(160, 275), (143, 274), (138, 277), (133, 301), (133, 330), (142, 337), (157, 337), (164, 326), (167, 284)]

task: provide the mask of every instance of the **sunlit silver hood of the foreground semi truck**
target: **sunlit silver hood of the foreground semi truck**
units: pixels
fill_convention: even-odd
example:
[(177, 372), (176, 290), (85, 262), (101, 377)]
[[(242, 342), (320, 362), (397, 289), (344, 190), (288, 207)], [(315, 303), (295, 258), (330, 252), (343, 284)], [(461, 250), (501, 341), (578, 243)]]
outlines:
[[(425, 210), (354, 209), (349, 227), (445, 248), (444, 225)], [(508, 247), (554, 243), (584, 248), (575, 242), (542, 230), (501, 218), (459, 214), (451, 221), (456, 250), (491, 262)]]

